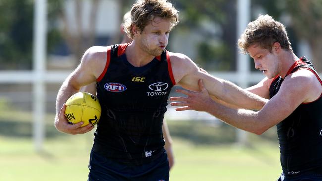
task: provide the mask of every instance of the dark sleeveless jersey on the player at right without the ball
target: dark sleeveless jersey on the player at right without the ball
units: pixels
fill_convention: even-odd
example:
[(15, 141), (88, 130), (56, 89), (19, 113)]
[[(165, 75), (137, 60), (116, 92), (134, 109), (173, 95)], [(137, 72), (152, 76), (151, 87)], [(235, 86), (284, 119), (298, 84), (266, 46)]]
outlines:
[[(296, 61), (286, 76), (298, 69), (312, 71), (322, 85), (321, 78), (305, 57)], [(274, 79), (269, 89), (270, 98), (277, 94), (282, 82), (281, 76)], [(285, 175), (305, 172), (322, 174), (319, 173), (322, 167), (322, 93), (317, 100), (302, 103), (290, 116), (278, 123), (277, 134)]]

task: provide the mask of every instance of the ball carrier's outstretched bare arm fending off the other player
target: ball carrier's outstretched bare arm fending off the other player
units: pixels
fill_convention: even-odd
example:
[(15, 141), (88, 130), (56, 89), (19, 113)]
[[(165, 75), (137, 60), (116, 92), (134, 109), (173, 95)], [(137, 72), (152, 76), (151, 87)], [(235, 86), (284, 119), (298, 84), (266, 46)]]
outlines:
[(241, 108), (259, 110), (268, 101), (268, 99), (243, 90), (229, 81), (213, 77), (200, 71), (200, 69), (183, 54), (172, 53), (170, 54), (170, 58), (176, 83), (185, 89), (200, 91), (198, 80), (203, 79), (208, 93), (228, 104)]

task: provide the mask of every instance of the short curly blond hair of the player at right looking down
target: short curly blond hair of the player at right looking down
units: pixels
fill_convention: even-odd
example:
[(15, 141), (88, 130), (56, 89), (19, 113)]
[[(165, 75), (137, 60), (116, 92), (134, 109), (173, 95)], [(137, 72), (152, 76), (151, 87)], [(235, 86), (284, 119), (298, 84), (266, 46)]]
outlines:
[(271, 52), (275, 42), (278, 42), (283, 49), (293, 51), (285, 26), (269, 15), (260, 15), (247, 25), (238, 39), (238, 47), (244, 54), (247, 54), (248, 48), (255, 44)]

